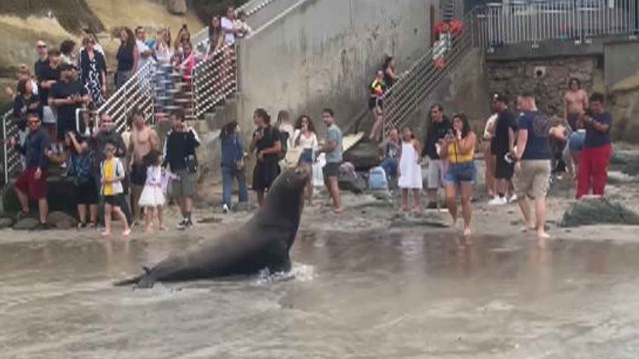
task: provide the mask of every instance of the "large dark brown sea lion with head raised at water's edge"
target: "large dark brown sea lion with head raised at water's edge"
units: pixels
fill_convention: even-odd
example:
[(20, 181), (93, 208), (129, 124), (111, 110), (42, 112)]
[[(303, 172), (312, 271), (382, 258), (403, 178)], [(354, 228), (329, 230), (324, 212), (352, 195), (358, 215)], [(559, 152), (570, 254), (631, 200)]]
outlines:
[(268, 268), (272, 273), (291, 269), (293, 245), (304, 208), (304, 187), (309, 173), (288, 169), (273, 182), (263, 208), (240, 229), (221, 234), (203, 245), (175, 254), (145, 273), (114, 283), (149, 288), (155, 282), (247, 275)]

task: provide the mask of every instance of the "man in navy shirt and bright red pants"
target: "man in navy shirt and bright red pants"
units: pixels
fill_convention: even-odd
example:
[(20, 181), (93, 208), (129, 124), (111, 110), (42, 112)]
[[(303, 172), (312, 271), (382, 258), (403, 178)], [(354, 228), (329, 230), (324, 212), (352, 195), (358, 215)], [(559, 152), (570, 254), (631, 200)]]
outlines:
[(590, 192), (603, 195), (608, 181), (608, 165), (612, 145), (610, 142), (610, 125), (612, 116), (604, 107), (602, 93), (590, 96), (590, 109), (587, 111), (583, 123), (586, 128), (586, 139), (583, 143), (579, 171), (577, 174), (577, 199)]

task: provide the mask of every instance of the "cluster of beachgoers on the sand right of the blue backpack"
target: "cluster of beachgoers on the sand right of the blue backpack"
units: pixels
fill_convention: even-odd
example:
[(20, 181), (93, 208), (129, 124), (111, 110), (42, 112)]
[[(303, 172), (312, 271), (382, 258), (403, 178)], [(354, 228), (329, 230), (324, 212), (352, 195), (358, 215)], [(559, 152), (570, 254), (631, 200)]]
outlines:
[(486, 160), (488, 204), (517, 202), (525, 222), (523, 231), (535, 231), (538, 238), (548, 238), (545, 199), (551, 174), (563, 167), (559, 162), (566, 162), (574, 176), (577, 199), (590, 193), (603, 195), (612, 151), (612, 118), (604, 109), (604, 95), (592, 93), (589, 97), (580, 89), (577, 79), (569, 80), (562, 119), (550, 118), (540, 111), (532, 93), (522, 93), (512, 100), (516, 104), (514, 110), (504, 95), (492, 96), (493, 114), (481, 138), (473, 132), (465, 114), (454, 114), (449, 119), (438, 103), (431, 106), (423, 147), (415, 140), (410, 126), (402, 128), (401, 137), (397, 129), (392, 129), (380, 146), (383, 151), (380, 166), (389, 178), (397, 179), (403, 192), (401, 209), (408, 211), (408, 194), (413, 192), (413, 210), (422, 211), (421, 164), (427, 162), (426, 210), (438, 210), (438, 191), (443, 188), (445, 207), (456, 224), (459, 192), (463, 233), (469, 235), (477, 182), (474, 164), (477, 148), (484, 151)]

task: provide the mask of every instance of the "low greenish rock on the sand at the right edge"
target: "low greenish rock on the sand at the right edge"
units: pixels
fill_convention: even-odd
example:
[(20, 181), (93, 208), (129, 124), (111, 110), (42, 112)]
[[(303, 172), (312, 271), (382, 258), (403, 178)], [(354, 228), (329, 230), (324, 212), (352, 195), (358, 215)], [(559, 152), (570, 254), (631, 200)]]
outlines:
[(559, 223), (560, 227), (596, 224), (639, 225), (639, 215), (620, 203), (592, 198), (571, 204)]

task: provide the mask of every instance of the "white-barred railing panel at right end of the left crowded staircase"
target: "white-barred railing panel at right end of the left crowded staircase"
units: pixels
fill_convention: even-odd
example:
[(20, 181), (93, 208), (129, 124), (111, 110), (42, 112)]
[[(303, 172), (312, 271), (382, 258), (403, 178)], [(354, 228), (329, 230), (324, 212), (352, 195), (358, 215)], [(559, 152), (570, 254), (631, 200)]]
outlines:
[(237, 91), (237, 47), (227, 45), (213, 52), (193, 69), (194, 116), (201, 118)]

